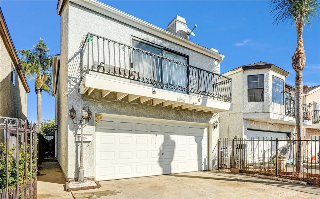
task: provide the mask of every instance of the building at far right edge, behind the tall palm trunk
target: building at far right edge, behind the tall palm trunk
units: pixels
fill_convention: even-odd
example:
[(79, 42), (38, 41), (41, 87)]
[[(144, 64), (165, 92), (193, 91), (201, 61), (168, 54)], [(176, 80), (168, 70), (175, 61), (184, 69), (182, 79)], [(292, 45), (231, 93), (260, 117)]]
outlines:
[(310, 106), (308, 117), (312, 121), (312, 126), (305, 126), (305, 138), (312, 139), (308, 142), (307, 149), (310, 150), (309, 158), (315, 159), (319, 152), (320, 138), (320, 85), (318, 86), (303, 86), (302, 101)]

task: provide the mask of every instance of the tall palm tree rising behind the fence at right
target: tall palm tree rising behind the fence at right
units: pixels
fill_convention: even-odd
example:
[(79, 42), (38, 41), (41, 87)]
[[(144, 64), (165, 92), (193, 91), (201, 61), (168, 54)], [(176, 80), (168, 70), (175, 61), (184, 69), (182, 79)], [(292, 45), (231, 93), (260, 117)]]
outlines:
[[(297, 31), (297, 48), (291, 57), (292, 68), (296, 72), (296, 130), (297, 139), (302, 138), (302, 70), (306, 64), (306, 55), (303, 50), (302, 30), (304, 25), (311, 26), (311, 19), (317, 19), (317, 0), (273, 0), (270, 1), (271, 13), (275, 14), (274, 24), (281, 22), (283, 25), (288, 20), (295, 23)], [(301, 162), (301, 142), (297, 144), (297, 171), (303, 173)]]

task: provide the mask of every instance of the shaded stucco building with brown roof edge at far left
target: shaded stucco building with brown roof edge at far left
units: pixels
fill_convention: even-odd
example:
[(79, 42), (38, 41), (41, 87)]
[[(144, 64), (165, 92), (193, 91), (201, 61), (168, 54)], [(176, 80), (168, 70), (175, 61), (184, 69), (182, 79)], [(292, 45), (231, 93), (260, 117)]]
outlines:
[(0, 116), (26, 120), (30, 89), (1, 8), (0, 12)]

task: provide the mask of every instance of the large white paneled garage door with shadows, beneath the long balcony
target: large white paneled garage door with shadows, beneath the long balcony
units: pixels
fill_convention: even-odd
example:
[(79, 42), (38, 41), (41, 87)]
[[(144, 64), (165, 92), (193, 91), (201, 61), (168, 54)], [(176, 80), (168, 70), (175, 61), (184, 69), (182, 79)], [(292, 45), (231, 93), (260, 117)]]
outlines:
[(207, 127), (103, 117), (96, 125), (95, 179), (208, 170)]

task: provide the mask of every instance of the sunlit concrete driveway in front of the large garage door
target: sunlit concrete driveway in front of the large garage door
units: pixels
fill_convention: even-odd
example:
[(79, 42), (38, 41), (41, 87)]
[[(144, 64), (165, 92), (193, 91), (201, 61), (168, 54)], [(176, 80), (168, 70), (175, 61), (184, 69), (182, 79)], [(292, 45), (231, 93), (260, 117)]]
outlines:
[[(52, 173), (55, 173), (52, 175), (46, 168), (47, 164), (42, 166), (48, 177), (63, 177), (62, 173), (58, 174), (57, 166), (50, 166)], [(221, 171), (101, 181), (100, 189), (75, 191), (72, 194), (63, 192), (63, 179), (48, 182), (50, 180), (39, 181), (39, 177), (38, 198), (320, 198), (320, 189), (316, 187)]]

